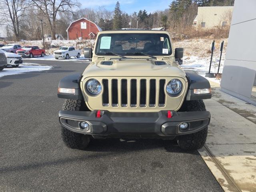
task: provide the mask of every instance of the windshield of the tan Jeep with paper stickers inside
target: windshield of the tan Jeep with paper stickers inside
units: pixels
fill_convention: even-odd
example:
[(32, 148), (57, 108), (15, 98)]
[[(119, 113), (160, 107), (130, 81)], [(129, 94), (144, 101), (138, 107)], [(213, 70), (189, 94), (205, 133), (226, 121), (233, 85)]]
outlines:
[(166, 56), (172, 54), (172, 48), (169, 36), (164, 33), (113, 33), (99, 35), (95, 52), (97, 55), (117, 53), (131, 56), (144, 53)]

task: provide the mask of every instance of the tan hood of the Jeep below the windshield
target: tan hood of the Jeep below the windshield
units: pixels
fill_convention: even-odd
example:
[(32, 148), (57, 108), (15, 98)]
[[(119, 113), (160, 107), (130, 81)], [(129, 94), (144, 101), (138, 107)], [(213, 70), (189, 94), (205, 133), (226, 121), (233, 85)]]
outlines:
[[(104, 60), (102, 60), (104, 61)], [(165, 60), (166, 65), (156, 65), (154, 62), (157, 60), (146, 59), (124, 59), (124, 60), (111, 60), (112, 65), (102, 65), (102, 61), (92, 62), (83, 73), (84, 77), (95, 76), (162, 76), (162, 77), (181, 77), (186, 80), (186, 74), (172, 60)], [(163, 61), (163, 60), (161, 60)]]

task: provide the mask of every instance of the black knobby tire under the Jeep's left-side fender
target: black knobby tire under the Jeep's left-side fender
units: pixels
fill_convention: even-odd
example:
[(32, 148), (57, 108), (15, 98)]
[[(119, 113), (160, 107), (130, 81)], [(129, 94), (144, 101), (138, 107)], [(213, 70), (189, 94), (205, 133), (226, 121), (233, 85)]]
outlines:
[[(65, 99), (62, 106), (62, 110), (80, 111), (82, 109), (84, 109), (84, 106), (81, 100)], [(62, 140), (68, 148), (85, 149), (90, 142), (90, 136), (72, 132), (63, 126), (61, 126), (61, 132)]]

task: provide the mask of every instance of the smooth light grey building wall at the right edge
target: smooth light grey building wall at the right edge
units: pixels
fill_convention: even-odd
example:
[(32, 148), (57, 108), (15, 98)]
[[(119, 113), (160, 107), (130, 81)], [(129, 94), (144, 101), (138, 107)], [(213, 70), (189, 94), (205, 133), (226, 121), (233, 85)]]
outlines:
[(221, 89), (256, 104), (256, 1), (236, 0)]

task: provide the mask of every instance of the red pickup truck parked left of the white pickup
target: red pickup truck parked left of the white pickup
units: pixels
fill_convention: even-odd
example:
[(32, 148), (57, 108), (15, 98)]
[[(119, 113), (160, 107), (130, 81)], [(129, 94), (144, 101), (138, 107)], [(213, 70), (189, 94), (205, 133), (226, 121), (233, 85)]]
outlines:
[(44, 57), (45, 50), (40, 49), (38, 46), (23, 46), (21, 49), (18, 49), (16, 53), (21, 55), (22, 57), (29, 57), (29, 58), (32, 58), (34, 56)]

